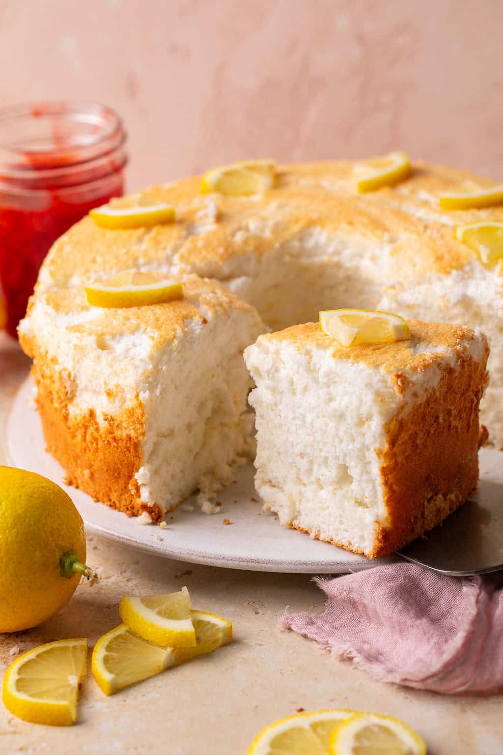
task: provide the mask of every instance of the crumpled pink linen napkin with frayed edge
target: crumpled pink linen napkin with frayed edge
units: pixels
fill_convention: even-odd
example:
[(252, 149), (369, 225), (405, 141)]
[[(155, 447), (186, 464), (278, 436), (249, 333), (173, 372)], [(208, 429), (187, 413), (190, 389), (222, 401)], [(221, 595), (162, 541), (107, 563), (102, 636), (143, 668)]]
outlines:
[(376, 679), (444, 695), (503, 692), (503, 574), (447, 577), (413, 563), (314, 578), (321, 614), (284, 629), (351, 658)]

